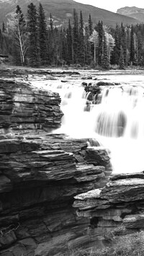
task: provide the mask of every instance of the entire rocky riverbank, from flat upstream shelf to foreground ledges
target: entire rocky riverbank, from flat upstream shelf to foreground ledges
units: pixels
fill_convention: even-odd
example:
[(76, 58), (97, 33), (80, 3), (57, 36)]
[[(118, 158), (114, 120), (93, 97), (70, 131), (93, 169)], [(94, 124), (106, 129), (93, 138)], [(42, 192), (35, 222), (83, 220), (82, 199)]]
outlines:
[(77, 247), (103, 247), (109, 232), (118, 236), (143, 229), (143, 172), (112, 175), (107, 151), (96, 140), (52, 133), (63, 116), (60, 96), (30, 83), (37, 77), (61, 84), (78, 80), (94, 101), (109, 81), (94, 81), (101, 72), (54, 72), (0, 71), (5, 76), (0, 79), (4, 256), (58, 256)]

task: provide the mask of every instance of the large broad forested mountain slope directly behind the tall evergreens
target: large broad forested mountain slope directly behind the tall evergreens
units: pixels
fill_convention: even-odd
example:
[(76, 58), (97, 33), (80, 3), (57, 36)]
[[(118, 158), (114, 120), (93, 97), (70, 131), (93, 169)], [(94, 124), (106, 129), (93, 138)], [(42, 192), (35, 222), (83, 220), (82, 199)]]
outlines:
[(24, 14), (26, 14), (27, 5), (31, 2), (36, 5), (41, 2), (46, 16), (50, 17), (50, 13), (53, 14), (59, 24), (63, 24), (68, 18), (72, 18), (74, 8), (78, 13), (82, 11), (85, 22), (87, 22), (89, 14), (91, 14), (94, 24), (99, 22), (99, 20), (103, 20), (105, 25), (112, 27), (116, 23), (121, 24), (122, 22), (128, 25), (138, 23), (138, 20), (131, 17), (125, 17), (124, 15), (99, 9), (88, 4), (80, 4), (73, 0), (0, 0), (0, 25), (3, 21), (6, 22), (11, 12), (14, 12), (17, 3), (22, 7)]

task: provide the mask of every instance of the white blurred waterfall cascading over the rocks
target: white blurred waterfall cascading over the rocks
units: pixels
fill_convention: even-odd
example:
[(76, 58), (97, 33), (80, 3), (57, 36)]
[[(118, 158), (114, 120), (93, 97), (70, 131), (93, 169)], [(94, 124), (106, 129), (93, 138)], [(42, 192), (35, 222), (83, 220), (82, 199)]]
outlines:
[(127, 82), (120, 85), (101, 87), (101, 93), (91, 100), (90, 93), (76, 81), (50, 84), (50, 89), (60, 94), (64, 113), (56, 132), (96, 138), (109, 149), (114, 173), (144, 170), (144, 87), (138, 79), (135, 83), (128, 81), (127, 76)]

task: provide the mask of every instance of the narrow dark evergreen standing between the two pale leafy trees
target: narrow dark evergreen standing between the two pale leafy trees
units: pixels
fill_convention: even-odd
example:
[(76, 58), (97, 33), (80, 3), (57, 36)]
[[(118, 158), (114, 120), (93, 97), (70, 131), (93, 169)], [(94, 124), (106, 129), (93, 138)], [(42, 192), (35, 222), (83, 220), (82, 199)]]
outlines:
[(103, 23), (98, 23), (98, 33), (99, 33), (99, 46), (98, 46), (98, 64), (102, 66), (102, 56), (103, 56), (103, 37), (104, 37), (104, 30), (103, 30)]

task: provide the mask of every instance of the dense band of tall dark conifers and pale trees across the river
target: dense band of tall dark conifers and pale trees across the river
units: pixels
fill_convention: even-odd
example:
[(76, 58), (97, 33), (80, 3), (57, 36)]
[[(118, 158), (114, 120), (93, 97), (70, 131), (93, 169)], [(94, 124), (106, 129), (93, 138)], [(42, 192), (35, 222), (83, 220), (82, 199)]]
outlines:
[(27, 16), (16, 12), (0, 30), (0, 53), (11, 56), (12, 63), (28, 66), (73, 66), (109, 69), (115, 66), (144, 66), (144, 25), (93, 25), (91, 14), (73, 9), (67, 27), (55, 27), (52, 14), (47, 20), (40, 4), (27, 6)]

